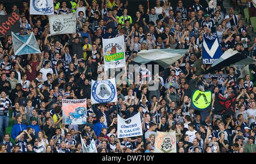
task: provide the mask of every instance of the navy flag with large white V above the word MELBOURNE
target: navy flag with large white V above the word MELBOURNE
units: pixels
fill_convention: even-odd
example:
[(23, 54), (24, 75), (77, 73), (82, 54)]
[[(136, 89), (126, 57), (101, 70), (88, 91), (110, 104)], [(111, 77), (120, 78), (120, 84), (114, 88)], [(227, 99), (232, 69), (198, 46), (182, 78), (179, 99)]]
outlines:
[(213, 64), (222, 55), (217, 33), (205, 36), (203, 39), (203, 64)]

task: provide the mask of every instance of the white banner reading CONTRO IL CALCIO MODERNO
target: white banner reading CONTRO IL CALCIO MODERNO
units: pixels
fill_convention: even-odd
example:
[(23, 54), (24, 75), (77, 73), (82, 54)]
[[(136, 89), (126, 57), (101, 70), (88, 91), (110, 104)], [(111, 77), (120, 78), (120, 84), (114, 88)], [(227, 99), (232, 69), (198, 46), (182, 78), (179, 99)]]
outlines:
[(121, 118), (119, 114), (117, 115), (117, 137), (135, 137), (142, 136), (142, 125), (141, 125), (141, 115), (139, 112), (127, 119)]

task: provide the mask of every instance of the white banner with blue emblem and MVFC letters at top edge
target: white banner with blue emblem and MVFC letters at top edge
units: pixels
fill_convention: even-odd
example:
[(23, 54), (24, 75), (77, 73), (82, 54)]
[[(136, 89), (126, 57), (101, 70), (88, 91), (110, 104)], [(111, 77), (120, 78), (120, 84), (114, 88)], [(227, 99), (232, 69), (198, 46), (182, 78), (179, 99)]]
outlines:
[(53, 0), (30, 0), (31, 15), (54, 14)]

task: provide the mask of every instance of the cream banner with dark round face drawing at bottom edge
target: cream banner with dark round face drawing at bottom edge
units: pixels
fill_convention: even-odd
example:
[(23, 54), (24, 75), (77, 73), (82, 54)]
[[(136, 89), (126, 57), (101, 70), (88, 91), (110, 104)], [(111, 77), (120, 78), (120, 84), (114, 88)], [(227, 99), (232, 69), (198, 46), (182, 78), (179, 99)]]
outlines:
[(175, 132), (156, 131), (154, 153), (176, 153)]

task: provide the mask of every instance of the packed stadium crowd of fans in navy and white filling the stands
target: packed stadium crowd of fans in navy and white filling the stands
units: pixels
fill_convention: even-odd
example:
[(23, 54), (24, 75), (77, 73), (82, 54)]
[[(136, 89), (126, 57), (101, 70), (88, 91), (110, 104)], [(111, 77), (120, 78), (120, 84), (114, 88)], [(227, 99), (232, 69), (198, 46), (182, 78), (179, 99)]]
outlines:
[[(193, 0), (156, 2), (147, 10), (131, 1), (72, 0), (54, 2), (55, 14), (77, 12), (77, 33), (49, 35), (46, 15), (30, 15), (29, 2), (19, 10), (20, 35), (34, 33), (40, 54), (15, 55), (11, 36), (0, 38), (0, 152), (80, 153), (81, 139), (96, 142), (98, 152), (154, 152), (156, 131), (176, 132), (179, 153), (243, 153), (256, 150), (256, 76), (254, 64), (225, 67), (214, 74), (228, 77), (204, 79), (209, 65), (202, 63), (203, 34), (217, 32), (222, 51), (238, 50), (256, 57), (256, 38), (251, 39), (244, 13), (238, 8), (253, 7), (238, 0), (237, 8), (224, 8), (223, 0), (209, 1), (207, 8)], [(216, 7), (214, 7), (216, 6)], [(133, 15), (129, 8), (136, 7)], [(242, 11), (242, 10), (241, 10)], [(10, 11), (11, 12), (11, 11)], [(0, 4), (0, 15), (6, 15)], [(148, 90), (146, 83), (131, 82), (128, 74), (117, 83), (118, 102), (91, 104), (91, 81), (104, 72), (102, 38), (123, 35), (126, 62), (133, 63), (139, 51), (188, 49), (184, 57), (155, 77), (159, 87)], [(161, 55), (161, 54), (159, 54)], [(249, 71), (250, 70), (250, 71)], [(146, 73), (144, 72), (146, 71)], [(141, 68), (140, 75), (150, 74)], [(236, 93), (232, 115), (193, 109), (191, 96), (196, 89), (211, 90), (229, 97)], [(61, 100), (87, 99), (87, 122), (64, 125)], [(213, 94), (214, 100), (214, 94)], [(117, 139), (117, 114), (123, 118), (141, 113), (143, 135)], [(9, 115), (10, 114), (10, 115)], [(6, 133), (14, 122), (11, 133)]]

